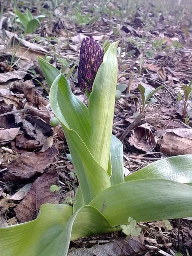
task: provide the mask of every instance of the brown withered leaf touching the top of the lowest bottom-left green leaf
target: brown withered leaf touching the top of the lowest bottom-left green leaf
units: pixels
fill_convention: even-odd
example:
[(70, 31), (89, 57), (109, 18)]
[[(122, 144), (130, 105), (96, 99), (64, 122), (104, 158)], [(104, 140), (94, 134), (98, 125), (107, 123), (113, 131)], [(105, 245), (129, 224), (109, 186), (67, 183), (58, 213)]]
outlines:
[(61, 195), (58, 192), (50, 192), (50, 186), (58, 182), (57, 172), (50, 169), (32, 184), (28, 194), (14, 209), (20, 222), (34, 220), (42, 204), (58, 204)]

